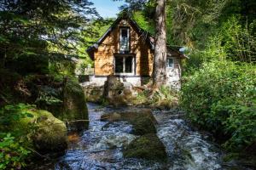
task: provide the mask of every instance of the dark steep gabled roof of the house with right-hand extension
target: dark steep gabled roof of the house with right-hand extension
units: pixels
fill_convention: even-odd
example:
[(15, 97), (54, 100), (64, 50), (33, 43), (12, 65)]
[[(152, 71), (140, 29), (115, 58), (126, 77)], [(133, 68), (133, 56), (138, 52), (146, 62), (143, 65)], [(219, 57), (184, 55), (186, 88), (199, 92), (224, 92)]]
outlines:
[[(91, 59), (93, 59), (92, 52), (99, 47), (99, 45), (104, 41), (106, 37), (108, 37), (109, 33), (113, 31), (113, 29), (119, 24), (121, 20), (127, 20), (130, 23), (130, 25), (133, 26), (140, 35), (144, 36), (144, 39), (146, 42), (148, 42), (149, 47), (152, 50), (154, 50), (154, 37), (148, 31), (145, 31), (143, 30), (143, 28), (138, 26), (137, 22), (135, 20), (132, 20), (131, 17), (121, 16), (113, 22), (112, 26), (108, 28), (108, 30), (103, 34), (102, 37), (100, 37), (100, 39), (97, 42), (95, 42), (92, 46), (86, 49), (86, 52), (90, 55)], [(176, 54), (178, 54), (181, 58), (185, 58), (185, 56), (181, 52), (179, 52), (177, 46), (167, 45), (167, 48), (169, 50), (175, 51)]]

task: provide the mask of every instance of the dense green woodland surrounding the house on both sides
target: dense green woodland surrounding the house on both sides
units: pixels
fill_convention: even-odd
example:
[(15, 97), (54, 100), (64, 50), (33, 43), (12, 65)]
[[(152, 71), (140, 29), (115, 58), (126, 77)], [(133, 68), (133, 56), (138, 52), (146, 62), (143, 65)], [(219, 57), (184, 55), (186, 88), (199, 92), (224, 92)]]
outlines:
[[(130, 14), (154, 35), (156, 1), (125, 2), (120, 15)], [(43, 114), (42, 110), (65, 122), (65, 113), (73, 109), (68, 106), (69, 95), (74, 103), (85, 105), (73, 97), (84, 95), (75, 74), (93, 65), (85, 49), (114, 20), (102, 19), (92, 4), (0, 1), (0, 169), (26, 167), (40, 150), (32, 144), (39, 122), (29, 123), (30, 127), (15, 123)], [(247, 157), (254, 166), (255, 8), (254, 0), (167, 0), (166, 44), (184, 47), (188, 59), (183, 60), (180, 92), (160, 87), (170, 102), (178, 96), (178, 108), (189, 122), (214, 134), (231, 153), (227, 159)]]

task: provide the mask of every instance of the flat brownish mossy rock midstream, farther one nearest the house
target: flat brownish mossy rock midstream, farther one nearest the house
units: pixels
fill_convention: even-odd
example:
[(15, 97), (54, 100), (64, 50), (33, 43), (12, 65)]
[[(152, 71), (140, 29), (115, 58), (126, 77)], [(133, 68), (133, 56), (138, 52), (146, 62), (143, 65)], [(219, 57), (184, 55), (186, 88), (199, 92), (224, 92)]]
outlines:
[(146, 133), (156, 133), (154, 124), (156, 120), (152, 112), (148, 109), (131, 109), (120, 112), (106, 113), (101, 116), (102, 121), (115, 122), (127, 121), (133, 126), (133, 133), (143, 135)]

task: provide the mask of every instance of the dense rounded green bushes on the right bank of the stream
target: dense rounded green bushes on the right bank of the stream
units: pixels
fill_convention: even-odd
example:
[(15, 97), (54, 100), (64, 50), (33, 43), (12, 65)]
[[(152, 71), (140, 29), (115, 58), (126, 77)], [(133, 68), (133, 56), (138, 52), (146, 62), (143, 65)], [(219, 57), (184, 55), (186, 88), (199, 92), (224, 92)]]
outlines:
[(189, 119), (229, 137), (224, 147), (241, 150), (256, 139), (255, 66), (205, 63), (183, 83), (181, 103)]

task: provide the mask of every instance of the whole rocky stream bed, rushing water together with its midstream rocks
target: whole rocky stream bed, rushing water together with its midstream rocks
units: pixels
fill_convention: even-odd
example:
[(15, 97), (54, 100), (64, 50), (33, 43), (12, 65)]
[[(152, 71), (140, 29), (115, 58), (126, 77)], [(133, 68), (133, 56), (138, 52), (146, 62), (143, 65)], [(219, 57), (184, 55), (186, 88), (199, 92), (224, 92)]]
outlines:
[(89, 129), (69, 135), (64, 156), (34, 169), (247, 169), (224, 163), (224, 152), (210, 141), (211, 135), (195, 131), (178, 111), (95, 104), (88, 109)]

